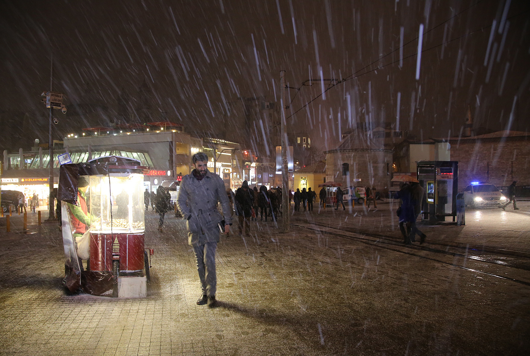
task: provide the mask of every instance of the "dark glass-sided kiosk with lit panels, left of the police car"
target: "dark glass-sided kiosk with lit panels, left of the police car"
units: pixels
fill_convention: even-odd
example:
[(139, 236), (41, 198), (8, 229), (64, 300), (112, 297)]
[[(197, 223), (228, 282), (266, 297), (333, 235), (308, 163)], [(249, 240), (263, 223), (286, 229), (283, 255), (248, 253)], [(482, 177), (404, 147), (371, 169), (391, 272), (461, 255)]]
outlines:
[(457, 161), (420, 161), (417, 163), (420, 185), (425, 189), (422, 220), (429, 223), (445, 221), (452, 216), (456, 221), (456, 195), (458, 193)]

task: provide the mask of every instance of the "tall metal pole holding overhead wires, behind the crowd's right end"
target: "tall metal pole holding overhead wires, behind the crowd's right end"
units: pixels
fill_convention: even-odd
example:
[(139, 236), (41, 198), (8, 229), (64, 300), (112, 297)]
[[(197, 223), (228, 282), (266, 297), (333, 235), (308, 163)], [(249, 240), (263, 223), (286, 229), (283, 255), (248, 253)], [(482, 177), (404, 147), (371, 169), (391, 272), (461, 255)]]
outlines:
[(285, 71), (280, 71), (280, 106), (281, 106), (281, 205), (283, 206), (283, 214), (281, 219), (282, 232), (289, 232), (289, 172), (287, 163), (287, 135), (285, 133)]

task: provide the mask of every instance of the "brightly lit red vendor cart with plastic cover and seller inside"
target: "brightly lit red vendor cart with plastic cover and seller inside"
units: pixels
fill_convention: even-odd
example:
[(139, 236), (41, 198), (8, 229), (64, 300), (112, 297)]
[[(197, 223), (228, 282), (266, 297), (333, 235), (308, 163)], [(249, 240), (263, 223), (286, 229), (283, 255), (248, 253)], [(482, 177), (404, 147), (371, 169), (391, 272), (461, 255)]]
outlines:
[(144, 249), (144, 169), (118, 156), (60, 167), (57, 198), (70, 292), (146, 296), (153, 250)]

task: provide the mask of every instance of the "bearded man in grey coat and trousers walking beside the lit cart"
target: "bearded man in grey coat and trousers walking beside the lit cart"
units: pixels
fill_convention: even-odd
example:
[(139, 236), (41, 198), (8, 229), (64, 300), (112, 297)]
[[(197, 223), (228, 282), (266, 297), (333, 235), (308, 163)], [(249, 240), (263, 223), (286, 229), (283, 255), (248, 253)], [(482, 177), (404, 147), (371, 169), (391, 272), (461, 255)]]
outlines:
[[(193, 247), (197, 261), (202, 288), (197, 304), (214, 307), (217, 285), (215, 250), (219, 242), (217, 224), (224, 224), (224, 231), (229, 232), (229, 225), (232, 225), (230, 204), (223, 180), (206, 168), (208, 156), (198, 152), (192, 159), (195, 169), (182, 177), (176, 204), (184, 219), (187, 219), (188, 244)], [(217, 210), (217, 202), (223, 208), (224, 220)]]

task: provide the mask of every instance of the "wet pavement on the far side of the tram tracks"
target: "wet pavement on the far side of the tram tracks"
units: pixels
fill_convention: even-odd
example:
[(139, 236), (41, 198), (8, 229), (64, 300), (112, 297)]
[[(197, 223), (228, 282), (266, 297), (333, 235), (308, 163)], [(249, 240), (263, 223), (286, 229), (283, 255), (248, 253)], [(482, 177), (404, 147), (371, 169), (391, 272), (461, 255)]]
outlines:
[[(506, 211), (497, 207), (471, 209), (466, 207), (465, 226), (423, 224), (418, 227), (427, 234), (427, 242), (461, 245), (470, 248), (481, 247), (493, 252), (530, 257), (530, 201), (519, 201), (519, 210), (513, 207)], [(346, 211), (328, 207), (321, 209), (314, 205), (313, 212), (295, 213), (293, 221), (307, 221), (332, 224), (337, 228), (348, 228), (359, 233), (379, 234), (402, 239), (398, 216), (395, 210), (399, 201), (377, 202), (377, 208), (356, 204)], [(342, 208), (342, 206), (341, 206)], [(452, 221), (451, 217), (447, 218)]]

